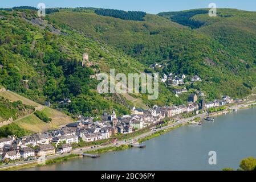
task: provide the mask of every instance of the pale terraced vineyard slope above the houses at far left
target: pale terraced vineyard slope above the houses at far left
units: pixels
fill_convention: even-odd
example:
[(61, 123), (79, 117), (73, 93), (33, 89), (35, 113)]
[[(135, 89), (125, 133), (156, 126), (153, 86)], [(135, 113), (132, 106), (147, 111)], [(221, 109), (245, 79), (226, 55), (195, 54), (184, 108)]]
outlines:
[[(32, 132), (42, 132), (52, 129), (58, 129), (68, 123), (74, 122), (74, 119), (68, 115), (44, 107), (34, 101), (31, 101), (25, 97), (20, 96), (17, 93), (5, 91), (0, 92), (0, 126), (9, 125), (15, 123), (22, 129)], [(43, 122), (34, 114), (34, 109), (42, 111), (47, 117), (51, 118), (50, 123)], [(13, 118), (12, 121), (7, 119)]]

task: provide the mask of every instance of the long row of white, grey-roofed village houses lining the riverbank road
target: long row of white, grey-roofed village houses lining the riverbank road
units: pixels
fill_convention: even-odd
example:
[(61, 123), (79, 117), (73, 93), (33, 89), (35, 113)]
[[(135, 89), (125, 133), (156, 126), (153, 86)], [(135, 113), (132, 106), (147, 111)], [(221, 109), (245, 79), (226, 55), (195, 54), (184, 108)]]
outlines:
[(173, 119), (183, 113), (198, 114), (218, 106), (224, 106), (239, 100), (223, 96), (222, 100), (205, 103), (198, 101), (197, 94), (190, 94), (188, 105), (153, 106), (143, 110), (133, 107), (130, 115), (117, 117), (115, 110), (111, 114), (106, 112), (100, 116), (79, 116), (78, 121), (70, 123), (59, 130), (48, 131), (17, 138), (9, 136), (0, 139), (0, 157), (2, 163), (20, 160), (33, 160), (40, 156), (67, 154), (72, 151), (72, 144), (95, 142), (103, 139), (115, 138), (117, 135), (130, 134), (145, 127), (156, 126), (162, 121)]

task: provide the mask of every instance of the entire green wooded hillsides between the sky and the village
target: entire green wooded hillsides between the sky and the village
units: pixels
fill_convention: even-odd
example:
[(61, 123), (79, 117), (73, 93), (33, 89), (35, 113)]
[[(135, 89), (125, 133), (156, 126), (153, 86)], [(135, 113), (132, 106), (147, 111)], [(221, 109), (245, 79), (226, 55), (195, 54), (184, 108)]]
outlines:
[[(0, 85), (71, 114), (118, 114), (129, 107), (182, 104), (173, 88), (160, 84), (160, 97), (145, 94), (98, 94), (96, 72), (155, 72), (198, 75), (202, 82), (186, 85), (208, 100), (241, 98), (256, 86), (256, 13), (219, 9), (178, 13), (123, 12), (103, 9), (54, 9), (45, 19), (34, 10), (0, 11)], [(113, 16), (113, 17), (111, 17)], [(116, 17), (116, 18), (115, 18)], [(86, 52), (92, 67), (82, 67)], [(70, 98), (69, 105), (59, 105)]]

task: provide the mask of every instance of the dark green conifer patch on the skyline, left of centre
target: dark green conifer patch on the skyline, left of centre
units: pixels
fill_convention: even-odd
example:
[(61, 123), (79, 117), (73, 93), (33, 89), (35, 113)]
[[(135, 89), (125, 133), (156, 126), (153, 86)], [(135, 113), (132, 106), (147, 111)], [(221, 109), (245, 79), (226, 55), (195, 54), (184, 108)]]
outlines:
[(143, 11), (122, 11), (112, 9), (96, 9), (95, 13), (103, 16), (112, 16), (114, 18), (120, 18), (124, 20), (138, 20), (143, 21), (146, 15)]

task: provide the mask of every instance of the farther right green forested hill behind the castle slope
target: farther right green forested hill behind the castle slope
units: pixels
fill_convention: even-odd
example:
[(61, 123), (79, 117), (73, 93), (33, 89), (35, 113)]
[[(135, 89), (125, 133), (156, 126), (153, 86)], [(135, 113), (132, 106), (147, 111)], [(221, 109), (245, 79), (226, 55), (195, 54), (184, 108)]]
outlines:
[[(187, 24), (180, 26), (166, 22), (169, 13), (160, 14), (164, 17), (150, 15), (151, 19), (159, 18), (157, 21), (147, 18), (131, 21), (100, 16), (91, 11), (60, 10), (50, 14), (49, 18), (102, 40), (147, 66), (165, 63), (162, 72), (199, 75), (203, 81), (188, 88), (204, 91), (209, 100), (224, 94), (232, 97), (250, 94), (256, 85), (255, 13), (218, 9), (215, 18), (209, 17), (206, 9), (184, 12), (176, 13), (176, 22), (180, 22), (179, 16), (183, 22), (184, 17), (188, 19)], [(201, 22), (199, 26), (198, 22)], [(197, 27), (192, 30), (185, 25)]]

